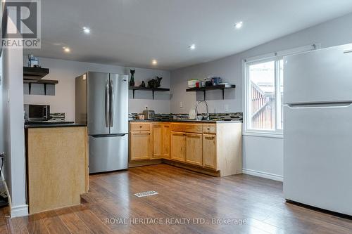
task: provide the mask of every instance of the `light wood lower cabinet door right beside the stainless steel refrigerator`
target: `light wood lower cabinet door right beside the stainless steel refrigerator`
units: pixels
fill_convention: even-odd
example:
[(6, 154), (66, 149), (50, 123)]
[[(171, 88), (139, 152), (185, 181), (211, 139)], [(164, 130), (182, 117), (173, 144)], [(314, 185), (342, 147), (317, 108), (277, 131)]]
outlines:
[(130, 160), (149, 160), (151, 158), (150, 131), (130, 132)]

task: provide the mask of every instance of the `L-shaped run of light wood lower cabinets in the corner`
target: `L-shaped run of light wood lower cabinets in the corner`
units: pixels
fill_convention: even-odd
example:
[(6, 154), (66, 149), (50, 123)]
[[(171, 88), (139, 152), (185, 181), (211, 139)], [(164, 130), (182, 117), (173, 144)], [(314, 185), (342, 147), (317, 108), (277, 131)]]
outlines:
[(130, 121), (130, 167), (166, 163), (211, 176), (242, 173), (242, 122)]

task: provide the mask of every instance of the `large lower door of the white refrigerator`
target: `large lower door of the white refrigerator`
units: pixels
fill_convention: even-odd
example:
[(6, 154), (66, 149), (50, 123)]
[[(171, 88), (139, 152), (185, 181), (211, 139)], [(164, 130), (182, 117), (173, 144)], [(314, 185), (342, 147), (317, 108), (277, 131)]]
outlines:
[(284, 197), (352, 215), (352, 105), (284, 106)]

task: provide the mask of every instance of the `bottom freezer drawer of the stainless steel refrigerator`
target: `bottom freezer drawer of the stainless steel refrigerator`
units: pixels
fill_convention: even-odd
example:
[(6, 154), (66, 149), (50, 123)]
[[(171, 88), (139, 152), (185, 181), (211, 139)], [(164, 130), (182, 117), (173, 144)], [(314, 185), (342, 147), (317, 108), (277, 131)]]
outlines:
[(128, 135), (89, 136), (89, 173), (128, 167)]

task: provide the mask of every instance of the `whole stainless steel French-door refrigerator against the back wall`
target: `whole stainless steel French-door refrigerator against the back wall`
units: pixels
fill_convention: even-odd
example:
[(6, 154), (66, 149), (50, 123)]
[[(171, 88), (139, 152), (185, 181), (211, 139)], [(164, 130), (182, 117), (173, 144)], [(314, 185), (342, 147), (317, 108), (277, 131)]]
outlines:
[(87, 72), (75, 91), (75, 122), (88, 127), (89, 173), (127, 169), (128, 76)]

